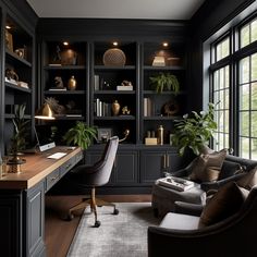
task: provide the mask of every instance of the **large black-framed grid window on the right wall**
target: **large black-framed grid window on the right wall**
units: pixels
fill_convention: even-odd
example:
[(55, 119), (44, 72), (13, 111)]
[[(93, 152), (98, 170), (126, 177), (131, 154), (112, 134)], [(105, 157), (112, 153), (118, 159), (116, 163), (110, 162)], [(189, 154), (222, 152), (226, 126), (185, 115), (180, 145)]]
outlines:
[(209, 93), (218, 103), (213, 149), (232, 147), (235, 155), (257, 160), (257, 17), (246, 19), (208, 41)]

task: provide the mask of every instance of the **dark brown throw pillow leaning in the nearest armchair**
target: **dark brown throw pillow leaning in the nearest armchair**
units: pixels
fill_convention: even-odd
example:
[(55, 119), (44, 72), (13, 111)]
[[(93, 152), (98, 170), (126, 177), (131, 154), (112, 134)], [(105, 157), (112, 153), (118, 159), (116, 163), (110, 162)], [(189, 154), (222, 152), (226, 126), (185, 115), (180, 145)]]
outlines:
[(237, 212), (248, 193), (247, 189), (237, 186), (235, 182), (222, 186), (204, 207), (199, 228), (215, 224)]

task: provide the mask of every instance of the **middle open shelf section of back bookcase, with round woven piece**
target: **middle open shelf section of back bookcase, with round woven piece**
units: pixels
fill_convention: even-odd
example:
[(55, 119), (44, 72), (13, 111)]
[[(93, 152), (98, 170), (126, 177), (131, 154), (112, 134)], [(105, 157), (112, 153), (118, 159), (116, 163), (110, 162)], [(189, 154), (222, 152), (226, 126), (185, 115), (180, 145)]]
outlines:
[[(99, 128), (109, 127), (113, 135), (121, 138), (127, 128), (133, 135), (130, 136), (130, 142), (134, 144), (137, 139), (136, 50), (136, 42), (119, 42), (115, 47), (108, 41), (95, 42), (91, 95), (91, 123)], [(120, 105), (118, 113), (112, 110), (115, 101)]]

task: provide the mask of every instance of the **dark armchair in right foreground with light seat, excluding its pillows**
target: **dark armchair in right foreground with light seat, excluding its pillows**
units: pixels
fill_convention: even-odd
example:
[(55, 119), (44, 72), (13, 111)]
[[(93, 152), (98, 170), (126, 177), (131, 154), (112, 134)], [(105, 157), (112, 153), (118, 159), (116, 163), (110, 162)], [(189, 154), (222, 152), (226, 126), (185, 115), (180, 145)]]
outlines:
[(148, 256), (255, 257), (257, 186), (241, 209), (215, 224), (199, 229), (199, 217), (168, 213), (159, 227), (148, 228)]

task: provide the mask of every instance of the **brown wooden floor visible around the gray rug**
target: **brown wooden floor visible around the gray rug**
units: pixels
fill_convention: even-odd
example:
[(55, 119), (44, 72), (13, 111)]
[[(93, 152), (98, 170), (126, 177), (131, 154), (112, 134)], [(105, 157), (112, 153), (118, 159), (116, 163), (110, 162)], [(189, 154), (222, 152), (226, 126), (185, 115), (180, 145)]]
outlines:
[[(99, 197), (99, 196), (98, 196)], [(65, 257), (75, 235), (83, 210), (72, 221), (65, 221), (69, 208), (81, 201), (82, 196), (46, 196), (47, 257)], [(114, 203), (150, 201), (150, 195), (108, 195), (99, 198)]]

